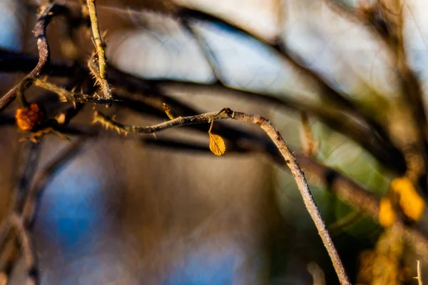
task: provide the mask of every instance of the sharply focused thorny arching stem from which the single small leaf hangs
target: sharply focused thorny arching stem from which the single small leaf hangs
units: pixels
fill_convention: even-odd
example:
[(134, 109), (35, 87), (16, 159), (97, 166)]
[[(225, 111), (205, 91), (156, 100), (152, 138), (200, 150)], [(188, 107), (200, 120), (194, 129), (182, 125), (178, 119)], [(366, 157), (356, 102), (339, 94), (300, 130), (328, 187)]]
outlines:
[(307, 184), (305, 174), (302, 169), (300, 169), (299, 164), (297, 164), (297, 160), (295, 159), (294, 154), (288, 149), (287, 144), (285, 144), (284, 139), (275, 126), (273, 126), (269, 120), (263, 118), (262, 116), (255, 114), (245, 114), (242, 112), (232, 111), (228, 108), (221, 110), (220, 112), (212, 112), (206, 114), (199, 114), (195, 116), (185, 116), (178, 117), (171, 121), (165, 121), (164, 123), (157, 124), (154, 126), (129, 126), (120, 124), (116, 121), (113, 121), (108, 116), (100, 114), (98, 112), (95, 113), (94, 122), (99, 121), (101, 124), (106, 126), (106, 128), (116, 129), (117, 131), (124, 131), (125, 133), (144, 133), (144, 134), (153, 134), (158, 131), (163, 131), (165, 129), (170, 129), (175, 126), (185, 126), (189, 124), (202, 124), (208, 123), (215, 120), (225, 120), (225, 119), (235, 119), (238, 121), (247, 121), (249, 123), (258, 124), (263, 131), (270, 137), (273, 141), (277, 149), (280, 151), (282, 158), (285, 160), (285, 163), (290, 168), (292, 175), (295, 177), (295, 181), (297, 183), (297, 187), (300, 190), (300, 194), (302, 194), (302, 199), (305, 203), (306, 209), (309, 212), (312, 220), (317, 227), (318, 233), (321, 236), (322, 242), (324, 243), (325, 249), (327, 249), (328, 254), (330, 255), (330, 259), (332, 260), (332, 264), (335, 267), (335, 271), (337, 277), (340, 280), (340, 284), (351, 284), (345, 268), (343, 267), (342, 261), (340, 260), (339, 254), (337, 254), (337, 250), (331, 236), (327, 230), (327, 226), (322, 219), (319, 209), (317, 208), (317, 204), (312, 197), (309, 185)]

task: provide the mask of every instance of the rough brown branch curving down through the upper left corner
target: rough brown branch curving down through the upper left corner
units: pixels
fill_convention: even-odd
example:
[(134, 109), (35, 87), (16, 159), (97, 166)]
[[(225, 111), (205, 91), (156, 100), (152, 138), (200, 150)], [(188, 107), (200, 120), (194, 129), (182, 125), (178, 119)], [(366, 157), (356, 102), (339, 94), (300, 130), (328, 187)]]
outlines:
[[(44, 6), (39, 19), (37, 19), (36, 28), (34, 29), (34, 36), (37, 39), (37, 49), (39, 49), (39, 62), (36, 67), (28, 74), (30, 77), (37, 78), (45, 72), (46, 64), (51, 61), (51, 53), (49, 51), (49, 44), (46, 39), (46, 27), (54, 16), (59, 14), (68, 13), (68, 8), (64, 5), (53, 3)], [(19, 89), (19, 84), (14, 86), (9, 92), (0, 99), (0, 113), (6, 109), (16, 98), (16, 93)]]

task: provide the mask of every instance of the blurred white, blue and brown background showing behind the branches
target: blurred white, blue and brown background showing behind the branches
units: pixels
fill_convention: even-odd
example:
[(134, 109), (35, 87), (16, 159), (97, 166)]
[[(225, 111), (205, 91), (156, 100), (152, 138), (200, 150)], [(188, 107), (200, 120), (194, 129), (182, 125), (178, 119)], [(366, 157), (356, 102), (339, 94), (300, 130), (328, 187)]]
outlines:
[[(228, 106), (265, 116), (292, 151), (300, 153), (305, 149), (300, 111), (227, 90), (301, 102), (329, 113), (340, 107), (325, 97), (328, 86), (362, 114), (384, 122), (392, 143), (404, 149), (414, 139), (414, 125), (409, 120), (412, 110), (402, 101), (397, 60), (367, 24), (341, 13), (332, 2), (97, 0), (96, 4), (101, 29), (106, 31), (108, 64), (164, 84), (162, 90), (173, 99), (203, 112)], [(61, 3), (78, 7), (78, 1)], [(337, 0), (351, 9), (371, 3)], [(38, 55), (32, 33), (38, 4), (0, 0), (1, 49)], [(183, 26), (170, 16), (176, 7), (221, 21), (196, 16)], [(424, 104), (426, 11), (424, 0), (402, 5), (405, 51)], [(86, 64), (93, 51), (86, 30), (76, 31), (77, 50), (66, 49), (59, 44), (64, 41), (61, 25), (53, 21), (47, 32), (52, 61)], [(24, 75), (1, 74), (2, 94)], [(53, 82), (67, 84), (61, 78)], [(215, 84), (223, 87), (212, 88)], [(40, 98), (46, 91), (32, 87), (29, 94)], [(17, 106), (14, 103), (6, 111)], [(126, 124), (146, 126), (168, 119), (141, 116), (116, 104), (101, 110)], [(93, 106), (85, 106), (73, 122), (90, 126), (92, 112)], [(226, 125), (263, 135), (248, 124)], [(308, 126), (315, 141), (314, 159), (376, 196), (387, 194), (396, 172), (315, 116), (309, 116)], [(21, 136), (16, 126), (1, 126), (1, 217), (9, 211), (27, 147), (18, 142)], [(188, 129), (156, 136), (208, 146), (208, 135)], [(78, 154), (49, 179), (33, 228), (41, 284), (338, 284), (295, 181), (284, 167), (263, 154), (226, 149), (225, 156), (218, 157), (208, 151), (153, 147), (132, 137), (85, 139)], [(46, 136), (39, 146), (35, 176), (69, 144)], [(388, 240), (376, 219), (312, 182), (312, 193), (352, 284), (417, 284), (412, 277), (423, 256), (399, 239)], [(418, 221), (421, 231), (426, 221), (425, 216)], [(382, 254), (387, 259), (379, 259)], [(376, 275), (374, 269), (384, 275), (390, 269), (396, 279), (382, 277), (382, 272)], [(7, 284), (23, 284), (23, 272), (19, 259)]]

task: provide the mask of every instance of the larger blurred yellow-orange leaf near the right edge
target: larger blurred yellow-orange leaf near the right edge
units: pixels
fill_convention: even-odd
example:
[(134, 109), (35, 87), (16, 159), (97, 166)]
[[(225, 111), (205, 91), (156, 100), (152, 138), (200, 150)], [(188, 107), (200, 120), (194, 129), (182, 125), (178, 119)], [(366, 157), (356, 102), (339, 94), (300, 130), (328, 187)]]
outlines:
[(391, 181), (391, 189), (399, 196), (399, 206), (403, 213), (414, 221), (419, 221), (425, 211), (425, 201), (407, 177)]

